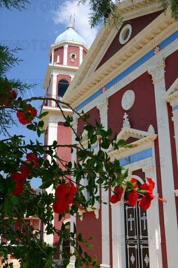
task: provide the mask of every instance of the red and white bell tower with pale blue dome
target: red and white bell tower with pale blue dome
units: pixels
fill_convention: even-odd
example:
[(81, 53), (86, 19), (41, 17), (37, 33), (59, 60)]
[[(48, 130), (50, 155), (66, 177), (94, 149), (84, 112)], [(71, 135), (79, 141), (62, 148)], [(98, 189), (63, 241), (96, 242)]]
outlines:
[[(54, 100), (45, 100), (42, 105), (41, 113), (48, 112), (48, 115), (43, 119), (45, 122), (44, 145), (52, 145), (56, 140), (57, 144), (65, 145), (71, 144), (71, 129), (64, 126), (64, 116), (72, 115), (72, 110), (56, 101), (62, 100), (68, 86), (72, 83), (72, 78), (77, 72), (80, 64), (86, 56), (89, 48), (85, 40), (79, 36), (72, 25), (70, 24), (65, 32), (60, 34), (50, 47), (47, 73), (45, 77), (44, 89), (46, 90), (46, 97)], [(71, 161), (71, 150), (66, 147), (59, 147), (57, 149), (57, 156), (64, 161)], [(46, 158), (50, 161), (50, 156)], [(58, 161), (58, 160), (56, 160)], [(64, 169), (62, 162), (59, 162), (59, 167)], [(47, 192), (54, 193), (53, 187), (46, 189)], [(53, 225), (60, 229), (62, 222), (67, 228), (70, 228), (70, 215), (67, 214), (65, 218), (58, 221), (58, 214), (54, 213)], [(43, 239), (51, 246), (57, 246), (59, 237), (57, 235), (45, 235), (46, 226), (41, 226), (43, 230)], [(63, 245), (69, 250), (69, 245)], [(68, 248), (67, 248), (68, 247)], [(61, 259), (60, 250), (54, 255), (55, 260)]]

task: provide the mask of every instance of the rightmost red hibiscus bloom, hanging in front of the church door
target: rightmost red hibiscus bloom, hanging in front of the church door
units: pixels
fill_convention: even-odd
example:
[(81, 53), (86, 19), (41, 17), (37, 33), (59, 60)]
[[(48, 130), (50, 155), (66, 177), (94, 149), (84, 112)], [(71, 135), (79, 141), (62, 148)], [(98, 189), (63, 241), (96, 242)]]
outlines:
[(154, 199), (153, 196), (153, 189), (155, 187), (155, 183), (152, 181), (151, 178), (147, 178), (148, 183), (143, 183), (141, 186), (141, 190), (146, 191), (146, 193), (144, 193), (144, 197), (142, 197), (142, 199), (139, 202), (139, 207), (141, 208), (141, 210), (147, 210), (149, 209), (149, 207), (151, 206), (151, 201)]

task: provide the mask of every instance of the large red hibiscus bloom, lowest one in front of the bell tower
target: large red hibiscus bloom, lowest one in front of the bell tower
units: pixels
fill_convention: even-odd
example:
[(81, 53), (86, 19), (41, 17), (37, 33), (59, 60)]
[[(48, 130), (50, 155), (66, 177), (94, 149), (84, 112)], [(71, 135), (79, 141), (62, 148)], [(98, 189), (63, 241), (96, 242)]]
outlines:
[(55, 196), (58, 200), (53, 203), (53, 211), (62, 214), (67, 210), (68, 205), (73, 204), (73, 196), (77, 188), (70, 181), (71, 188), (67, 184), (60, 184), (55, 190)]

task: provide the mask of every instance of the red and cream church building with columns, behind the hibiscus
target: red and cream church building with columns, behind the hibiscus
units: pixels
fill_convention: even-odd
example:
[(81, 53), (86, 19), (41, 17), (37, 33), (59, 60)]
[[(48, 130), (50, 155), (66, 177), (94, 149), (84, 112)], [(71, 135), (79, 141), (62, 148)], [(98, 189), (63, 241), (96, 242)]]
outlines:
[[(89, 51), (81, 40), (72, 41), (72, 45), (69, 42), (66, 50), (65, 46), (53, 50), (52, 45), (52, 62), (47, 71), (47, 80), (52, 85), (50, 94), (62, 97), (78, 112), (90, 114), (91, 124), (96, 119), (105, 130), (111, 128), (118, 140), (137, 145), (119, 151), (110, 146), (107, 153), (111, 161), (120, 159), (128, 169), (128, 178), (137, 179), (138, 184), (152, 178), (154, 195), (163, 197), (167, 203), (155, 198), (151, 207), (142, 211), (124, 201), (111, 204), (111, 191), (99, 189), (107, 205), (96, 203), (94, 211), (79, 211), (80, 218), (62, 218), (60, 222), (55, 215), (54, 225), (60, 227), (64, 222), (67, 226), (70, 221), (72, 230), (74, 222), (77, 233), (81, 232), (86, 239), (93, 236), (89, 254), (97, 255), (101, 268), (177, 268), (178, 24), (171, 18), (170, 10), (164, 13), (159, 9), (158, 1), (145, 4), (125, 0), (120, 3), (119, 15), (123, 16), (123, 25), (119, 29), (103, 25)], [(63, 44), (61, 40), (59, 44)], [(66, 51), (68, 56), (64, 56)], [(78, 61), (74, 59), (73, 63), (72, 54)], [(76, 66), (71, 62), (76, 62)], [(61, 80), (70, 85), (60, 95), (57, 90), (66, 83)], [(50, 112), (46, 144), (53, 140), (74, 143), (75, 137), (63, 126), (62, 114), (55, 104), (47, 103), (43, 109)], [(70, 109), (63, 110), (71, 115)], [(84, 122), (76, 115), (73, 122), (86, 146)], [(97, 152), (99, 144), (93, 146)], [(67, 161), (77, 161), (75, 150), (72, 155), (67, 151), (60, 151), (59, 155)], [(55, 245), (57, 238), (46, 239)], [(74, 262), (71, 257), (70, 268)]]

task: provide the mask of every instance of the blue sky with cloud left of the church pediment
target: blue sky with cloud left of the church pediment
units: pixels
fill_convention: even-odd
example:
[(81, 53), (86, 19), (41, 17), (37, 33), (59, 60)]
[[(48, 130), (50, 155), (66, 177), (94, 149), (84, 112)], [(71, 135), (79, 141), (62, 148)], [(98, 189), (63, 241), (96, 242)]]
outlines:
[[(26, 5), (26, 10), (17, 11), (12, 8), (7, 10), (0, 8), (0, 41), (10, 49), (16, 47), (18, 57), (23, 59), (19, 65), (12, 68), (8, 78), (20, 78), (36, 86), (32, 92), (29, 90), (24, 97), (44, 96), (43, 81), (49, 63), (50, 45), (55, 38), (67, 29), (70, 24), (70, 16), (75, 12), (75, 31), (78, 32), (91, 45), (98, 29), (90, 29), (88, 23), (89, 6), (77, 7), (77, 0), (31, 0), (31, 5)], [(73, 23), (73, 19), (71, 20)], [(82, 28), (81, 28), (82, 25)], [(33, 102), (33, 106), (39, 107), (40, 103)], [(17, 120), (18, 121), (18, 120)], [(28, 139), (35, 140), (37, 135), (28, 131), (25, 126), (13, 127), (10, 134), (23, 134)], [(43, 137), (37, 138), (43, 142)], [(40, 180), (33, 179), (32, 187), (40, 185)]]

